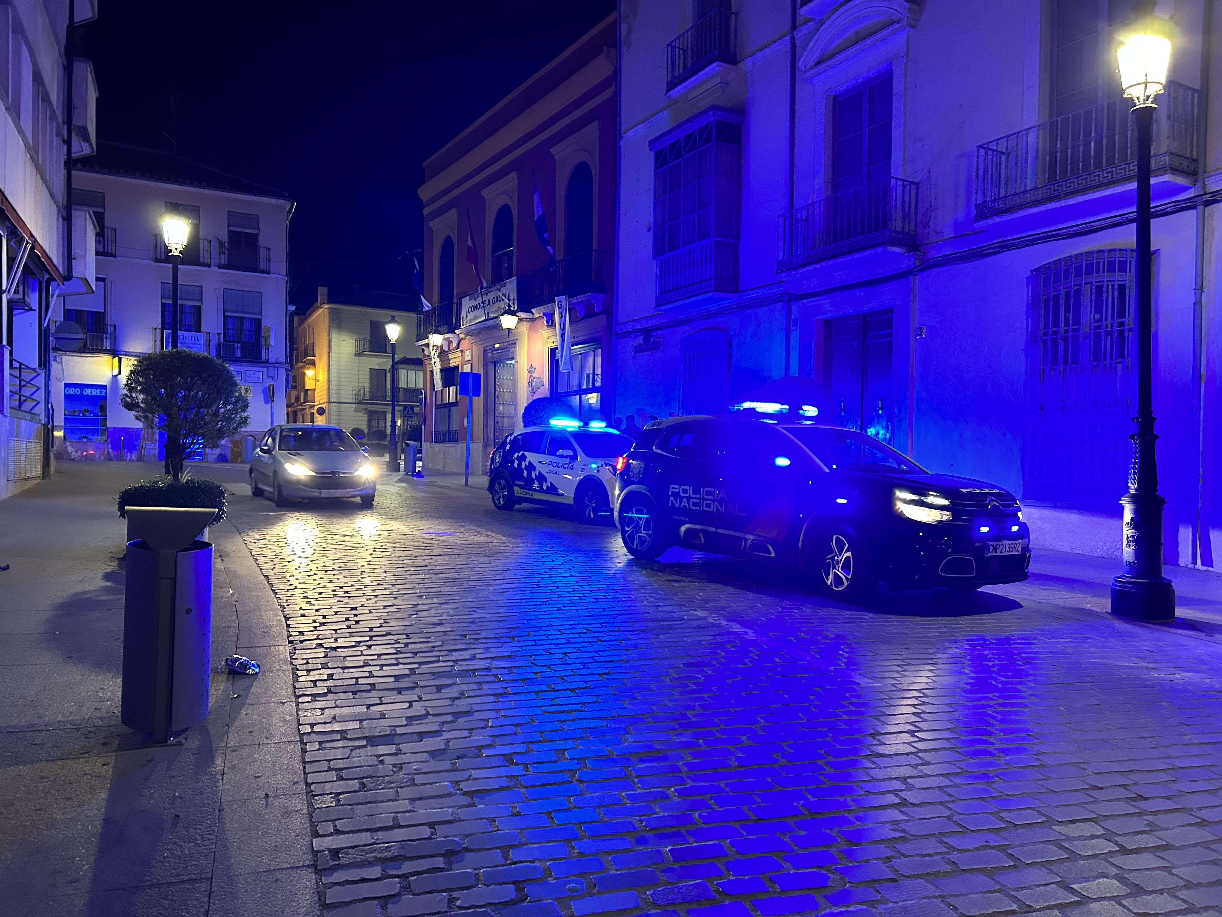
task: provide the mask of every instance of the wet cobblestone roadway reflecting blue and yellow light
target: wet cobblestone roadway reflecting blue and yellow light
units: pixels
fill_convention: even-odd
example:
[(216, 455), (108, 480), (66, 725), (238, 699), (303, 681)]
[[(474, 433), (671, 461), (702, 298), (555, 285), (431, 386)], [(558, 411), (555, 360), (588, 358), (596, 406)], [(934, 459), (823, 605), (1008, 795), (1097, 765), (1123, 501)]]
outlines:
[(800, 576), (437, 482), (231, 518), (327, 913), (1222, 915), (1222, 644)]

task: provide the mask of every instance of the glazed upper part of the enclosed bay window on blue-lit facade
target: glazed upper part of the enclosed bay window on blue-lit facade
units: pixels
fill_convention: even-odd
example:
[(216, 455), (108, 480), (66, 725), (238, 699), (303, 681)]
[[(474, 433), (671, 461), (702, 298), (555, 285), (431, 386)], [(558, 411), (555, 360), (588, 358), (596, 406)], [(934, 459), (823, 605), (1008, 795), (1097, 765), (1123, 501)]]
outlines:
[(742, 128), (710, 120), (654, 152), (654, 257), (738, 240)]

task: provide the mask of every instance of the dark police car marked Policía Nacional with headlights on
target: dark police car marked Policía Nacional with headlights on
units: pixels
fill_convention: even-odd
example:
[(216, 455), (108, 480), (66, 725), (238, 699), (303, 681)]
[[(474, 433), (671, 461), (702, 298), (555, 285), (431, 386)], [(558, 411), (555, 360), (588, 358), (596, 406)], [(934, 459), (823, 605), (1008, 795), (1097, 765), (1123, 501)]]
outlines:
[(800, 414), (650, 423), (616, 478), (623, 547), (649, 560), (678, 544), (797, 562), (847, 599), (880, 581), (971, 591), (1026, 578), (1030, 533), (1008, 490)]

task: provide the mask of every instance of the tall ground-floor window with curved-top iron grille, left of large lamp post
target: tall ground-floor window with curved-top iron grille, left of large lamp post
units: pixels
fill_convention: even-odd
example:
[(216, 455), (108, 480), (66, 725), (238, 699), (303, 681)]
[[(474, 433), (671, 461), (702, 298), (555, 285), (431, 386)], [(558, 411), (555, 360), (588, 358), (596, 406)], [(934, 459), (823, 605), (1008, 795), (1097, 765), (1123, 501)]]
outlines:
[(1024, 499), (1111, 506), (1132, 458), (1130, 248), (1048, 262), (1029, 281)]

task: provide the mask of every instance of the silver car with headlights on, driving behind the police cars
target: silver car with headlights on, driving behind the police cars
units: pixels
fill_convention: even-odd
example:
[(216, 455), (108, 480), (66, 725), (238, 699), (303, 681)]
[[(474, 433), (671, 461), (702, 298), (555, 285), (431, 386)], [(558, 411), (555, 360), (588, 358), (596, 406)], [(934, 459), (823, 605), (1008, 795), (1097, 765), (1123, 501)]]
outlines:
[(359, 496), (371, 506), (376, 489), (378, 468), (338, 427), (273, 427), (251, 458), (251, 494), (270, 492), (276, 506), (324, 496)]

